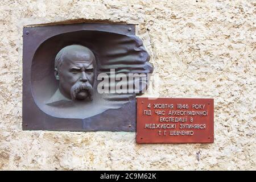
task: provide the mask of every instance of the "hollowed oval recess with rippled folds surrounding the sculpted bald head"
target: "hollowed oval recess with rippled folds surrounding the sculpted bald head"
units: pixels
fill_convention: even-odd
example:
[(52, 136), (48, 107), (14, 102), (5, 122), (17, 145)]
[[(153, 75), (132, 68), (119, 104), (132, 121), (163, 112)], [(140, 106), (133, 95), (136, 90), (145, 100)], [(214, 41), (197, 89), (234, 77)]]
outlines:
[[(54, 60), (61, 48), (73, 44), (88, 47), (96, 57), (96, 76), (92, 102), (80, 102), (72, 107), (48, 105), (47, 101), (56, 92), (58, 81), (54, 75)], [(109, 109), (118, 109), (135, 94), (100, 94), (97, 92), (97, 75), (110, 69), (115, 73), (152, 73), (149, 55), (142, 40), (133, 35), (121, 35), (104, 31), (81, 30), (52, 36), (35, 52), (31, 65), (31, 89), (36, 105), (44, 113), (57, 118), (85, 119)], [(127, 82), (127, 86), (133, 84)], [(109, 86), (112, 86), (111, 84)], [(143, 88), (140, 88), (143, 89)]]

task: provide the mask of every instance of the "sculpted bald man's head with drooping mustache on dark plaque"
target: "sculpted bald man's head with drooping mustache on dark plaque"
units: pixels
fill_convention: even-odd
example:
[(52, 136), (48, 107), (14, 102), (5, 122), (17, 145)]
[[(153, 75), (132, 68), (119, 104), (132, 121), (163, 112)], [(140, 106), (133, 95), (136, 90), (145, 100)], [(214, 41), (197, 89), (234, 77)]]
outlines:
[(96, 59), (90, 49), (72, 45), (61, 49), (55, 57), (55, 78), (59, 90), (72, 100), (92, 100)]

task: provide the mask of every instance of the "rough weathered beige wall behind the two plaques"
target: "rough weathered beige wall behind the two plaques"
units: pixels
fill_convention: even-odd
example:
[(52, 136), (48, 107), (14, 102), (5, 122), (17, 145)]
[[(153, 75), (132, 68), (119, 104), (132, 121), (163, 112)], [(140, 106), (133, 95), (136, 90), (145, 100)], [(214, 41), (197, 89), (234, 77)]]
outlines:
[[(1, 1), (0, 169), (256, 169), (255, 7), (245, 0)], [(139, 24), (160, 96), (214, 98), (215, 142), (22, 131), (22, 27), (73, 19)]]

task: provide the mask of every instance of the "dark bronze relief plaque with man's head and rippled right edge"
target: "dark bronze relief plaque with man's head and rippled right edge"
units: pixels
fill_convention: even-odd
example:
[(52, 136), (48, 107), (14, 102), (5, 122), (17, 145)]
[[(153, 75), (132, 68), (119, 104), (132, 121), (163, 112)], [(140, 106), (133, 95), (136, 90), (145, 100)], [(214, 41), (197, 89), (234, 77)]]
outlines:
[(133, 24), (25, 27), (23, 130), (135, 131), (136, 93), (98, 87), (102, 75), (115, 77), (113, 70), (125, 77), (152, 73), (148, 61)]

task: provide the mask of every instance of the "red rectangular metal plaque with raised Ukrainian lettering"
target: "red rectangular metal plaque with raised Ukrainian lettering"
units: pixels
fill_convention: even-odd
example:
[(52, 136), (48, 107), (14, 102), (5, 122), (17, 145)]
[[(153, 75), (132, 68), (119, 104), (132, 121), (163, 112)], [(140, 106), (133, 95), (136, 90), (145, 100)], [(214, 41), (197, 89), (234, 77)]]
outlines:
[(137, 98), (137, 143), (213, 143), (213, 99)]

